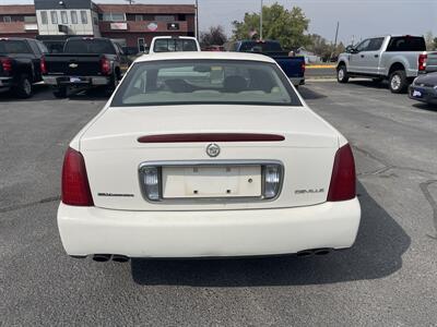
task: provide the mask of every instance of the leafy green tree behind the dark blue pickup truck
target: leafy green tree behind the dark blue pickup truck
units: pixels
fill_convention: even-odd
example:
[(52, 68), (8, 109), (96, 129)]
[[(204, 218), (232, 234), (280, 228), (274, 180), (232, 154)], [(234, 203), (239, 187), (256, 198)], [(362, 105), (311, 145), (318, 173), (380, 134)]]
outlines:
[[(308, 32), (309, 20), (303, 10), (293, 7), (292, 10), (285, 9), (279, 3), (262, 8), (262, 37), (264, 39), (275, 39), (284, 48), (295, 49), (309, 45)], [(233, 38), (247, 39), (259, 38), (260, 15), (258, 13), (246, 13), (244, 21), (233, 22)]]

